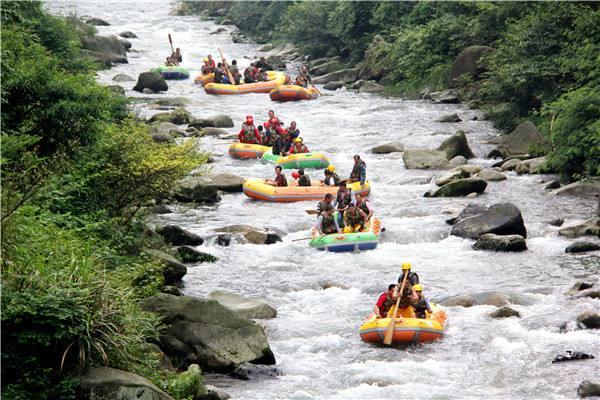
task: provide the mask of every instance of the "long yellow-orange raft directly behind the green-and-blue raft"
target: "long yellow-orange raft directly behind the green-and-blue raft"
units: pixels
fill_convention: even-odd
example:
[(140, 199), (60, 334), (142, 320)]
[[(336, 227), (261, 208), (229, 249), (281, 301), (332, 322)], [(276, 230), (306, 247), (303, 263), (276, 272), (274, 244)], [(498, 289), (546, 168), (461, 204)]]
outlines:
[[(267, 185), (264, 179), (246, 179), (243, 185), (244, 194), (250, 198), (277, 203), (291, 203), (294, 201), (322, 200), (327, 193), (336, 195), (337, 186), (326, 186), (320, 182), (313, 182), (314, 186), (298, 186), (296, 181), (289, 182), (289, 186), (276, 187)], [(346, 185), (352, 192), (368, 195), (371, 190), (369, 182), (361, 187), (360, 182)]]

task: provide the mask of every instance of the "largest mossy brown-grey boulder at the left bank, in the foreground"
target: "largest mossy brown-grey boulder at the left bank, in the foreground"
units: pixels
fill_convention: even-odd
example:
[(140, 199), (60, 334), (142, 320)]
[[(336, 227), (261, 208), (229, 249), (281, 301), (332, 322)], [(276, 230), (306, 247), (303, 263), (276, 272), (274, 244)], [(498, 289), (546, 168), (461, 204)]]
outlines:
[(157, 294), (142, 309), (166, 325), (161, 348), (178, 367), (193, 363), (205, 371), (228, 372), (242, 364), (275, 364), (263, 328), (240, 317), (216, 300)]

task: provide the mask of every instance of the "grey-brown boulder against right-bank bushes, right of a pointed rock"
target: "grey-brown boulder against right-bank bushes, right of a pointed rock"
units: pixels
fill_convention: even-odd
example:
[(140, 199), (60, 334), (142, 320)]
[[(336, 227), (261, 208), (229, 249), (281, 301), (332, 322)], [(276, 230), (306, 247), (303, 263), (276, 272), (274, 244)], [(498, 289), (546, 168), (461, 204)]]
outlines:
[(516, 154), (526, 154), (532, 147), (542, 146), (545, 141), (535, 125), (529, 121), (520, 123), (508, 135), (495, 137), (489, 141), (497, 144), (488, 157), (508, 157)]

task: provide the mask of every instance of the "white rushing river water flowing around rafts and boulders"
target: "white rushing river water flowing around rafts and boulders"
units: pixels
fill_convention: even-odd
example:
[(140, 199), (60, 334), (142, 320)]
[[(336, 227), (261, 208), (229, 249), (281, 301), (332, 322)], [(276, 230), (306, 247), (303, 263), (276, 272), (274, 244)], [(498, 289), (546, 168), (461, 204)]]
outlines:
[[(167, 34), (181, 47), (183, 66), (192, 76), (201, 59), (221, 48), (241, 67), (260, 55), (258, 46), (234, 44), (227, 33), (210, 35), (217, 26), (197, 17), (169, 16), (170, 4), (134, 2), (51, 3), (56, 13), (92, 15), (111, 26), (101, 34), (131, 30), (133, 50), (129, 64), (100, 71), (98, 79), (113, 84), (117, 73), (134, 78), (159, 65), (170, 54)], [(231, 29), (229, 26), (227, 29)], [(276, 306), (278, 317), (263, 320), (282, 376), (263, 381), (236, 381), (213, 377), (239, 399), (564, 399), (576, 398), (584, 379), (598, 378), (598, 358), (551, 364), (556, 353), (567, 349), (600, 356), (598, 331), (559, 333), (557, 326), (573, 320), (586, 309), (598, 310), (598, 299), (572, 299), (567, 291), (576, 280), (597, 281), (598, 252), (565, 254), (570, 240), (559, 237), (550, 219), (586, 218), (595, 204), (571, 197), (548, 195), (543, 176), (508, 173), (503, 182), (491, 182), (476, 199), (424, 198), (428, 182), (439, 171), (406, 170), (399, 153), (375, 155), (371, 147), (400, 141), (407, 148), (433, 148), (457, 129), (467, 132), (477, 155), (472, 163), (489, 165), (483, 157), (485, 139), (498, 133), (487, 121), (471, 120), (480, 113), (463, 105), (434, 105), (351, 91), (328, 92), (314, 101), (276, 104), (265, 94), (209, 96), (192, 80), (169, 81), (161, 95), (131, 91), (135, 82), (123, 85), (127, 95), (140, 98), (184, 96), (195, 116), (226, 113), (236, 121), (237, 132), (246, 114), (262, 122), (267, 110), (287, 123), (298, 122), (310, 149), (330, 155), (340, 175), (347, 175), (352, 155), (366, 160), (373, 184), (371, 199), (387, 231), (377, 250), (357, 254), (330, 254), (312, 250), (307, 241), (314, 222), (304, 210), (312, 202), (271, 204), (251, 201), (243, 194), (224, 194), (216, 206), (184, 208), (157, 217), (158, 223), (176, 223), (206, 235), (213, 228), (245, 223), (276, 227), (287, 235), (270, 246), (236, 244), (205, 245), (219, 257), (214, 264), (188, 269), (187, 295), (204, 296), (215, 289), (266, 299)], [(144, 107), (142, 112), (155, 112)], [(434, 122), (441, 114), (458, 112), (464, 122)], [(239, 161), (227, 156), (229, 141), (202, 138), (212, 151), (212, 168), (247, 177), (270, 177), (273, 168), (258, 161)], [(310, 172), (311, 178), (322, 176)], [(511, 201), (519, 207), (527, 226), (529, 250), (522, 253), (475, 251), (472, 241), (449, 236), (444, 220), (466, 204)], [(460, 293), (498, 290), (513, 294), (521, 304), (511, 305), (522, 318), (495, 320), (493, 306), (450, 307), (449, 328), (437, 343), (408, 349), (375, 347), (362, 343), (358, 327), (388, 283), (395, 282), (402, 261), (410, 261), (421, 276), (425, 294), (443, 299)], [(322, 289), (335, 281), (349, 289)]]

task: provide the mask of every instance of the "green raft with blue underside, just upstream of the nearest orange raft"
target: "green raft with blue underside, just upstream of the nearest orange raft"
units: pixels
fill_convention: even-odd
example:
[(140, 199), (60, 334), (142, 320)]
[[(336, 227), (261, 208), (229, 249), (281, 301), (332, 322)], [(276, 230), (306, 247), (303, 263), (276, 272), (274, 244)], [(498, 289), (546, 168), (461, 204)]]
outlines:
[[(337, 212), (334, 213), (334, 217), (337, 218)], [(309, 246), (313, 249), (327, 250), (334, 253), (374, 250), (379, 243), (381, 221), (372, 217), (366, 228), (364, 232), (332, 233), (330, 235), (319, 235), (317, 229), (313, 228), (313, 239), (310, 241)]]

